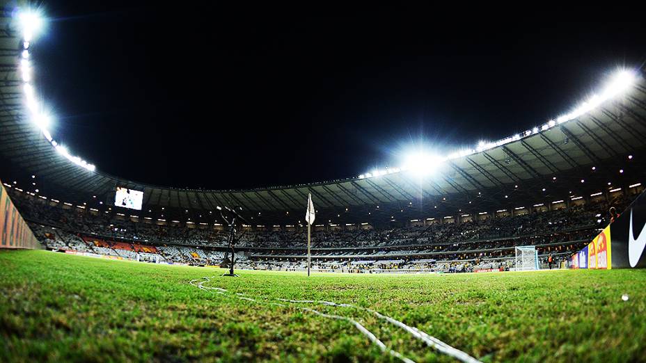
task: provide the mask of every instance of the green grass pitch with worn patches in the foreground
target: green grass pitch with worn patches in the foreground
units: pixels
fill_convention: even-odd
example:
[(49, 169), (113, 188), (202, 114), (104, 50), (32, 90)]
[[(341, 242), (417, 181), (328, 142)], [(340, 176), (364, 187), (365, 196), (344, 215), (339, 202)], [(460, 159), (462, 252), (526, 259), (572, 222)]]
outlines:
[[(400, 328), (346, 307), (278, 307), (200, 290), (214, 268), (0, 251), (0, 362), (391, 362), (351, 316), (416, 362), (450, 362)], [(456, 275), (239, 271), (207, 286), (347, 302), (397, 318), (485, 362), (646, 359), (646, 270)], [(622, 294), (629, 300), (624, 302)]]

